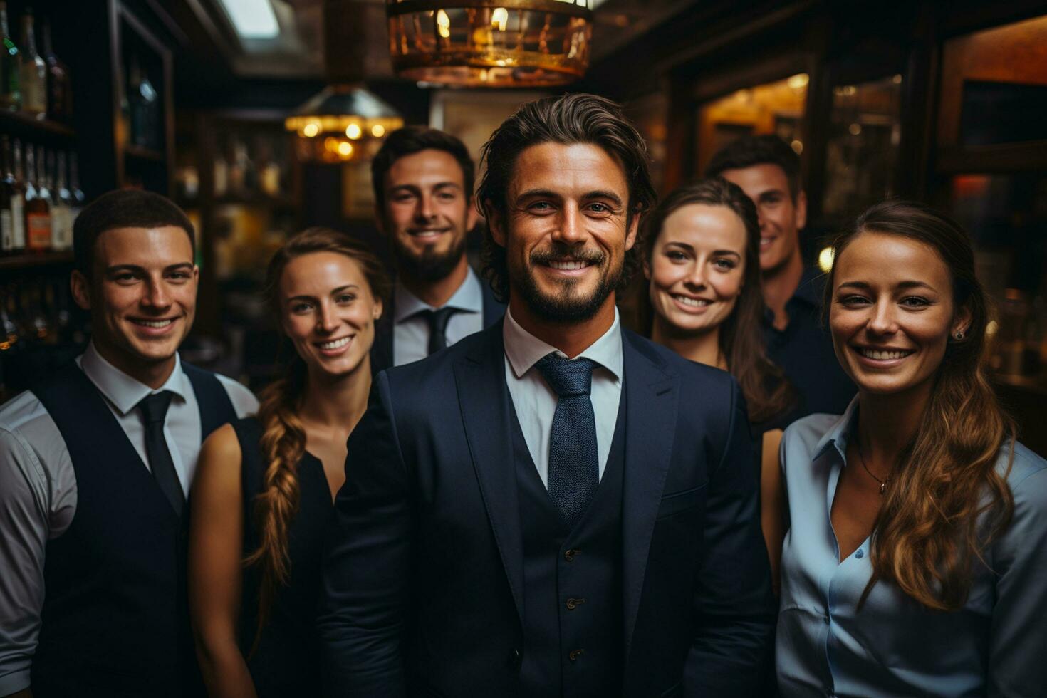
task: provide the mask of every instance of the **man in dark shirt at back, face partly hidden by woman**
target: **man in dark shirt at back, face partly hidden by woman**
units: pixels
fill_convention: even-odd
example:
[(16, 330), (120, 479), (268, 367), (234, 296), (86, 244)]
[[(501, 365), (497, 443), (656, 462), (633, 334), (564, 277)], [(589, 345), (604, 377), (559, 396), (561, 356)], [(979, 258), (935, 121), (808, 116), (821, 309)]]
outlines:
[(800, 231), (807, 224), (807, 195), (800, 157), (778, 136), (745, 136), (716, 153), (706, 176), (737, 184), (756, 204), (767, 355), (800, 397), (787, 421), (812, 412), (843, 414), (855, 388), (822, 327), (821, 273), (803, 264)]

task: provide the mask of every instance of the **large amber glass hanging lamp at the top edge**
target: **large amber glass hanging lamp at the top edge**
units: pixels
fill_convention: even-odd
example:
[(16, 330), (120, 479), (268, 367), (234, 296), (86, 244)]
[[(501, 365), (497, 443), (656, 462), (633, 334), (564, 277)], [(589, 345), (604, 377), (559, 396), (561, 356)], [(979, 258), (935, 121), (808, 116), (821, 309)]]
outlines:
[(591, 0), (385, 0), (393, 69), (468, 87), (553, 87), (585, 74)]

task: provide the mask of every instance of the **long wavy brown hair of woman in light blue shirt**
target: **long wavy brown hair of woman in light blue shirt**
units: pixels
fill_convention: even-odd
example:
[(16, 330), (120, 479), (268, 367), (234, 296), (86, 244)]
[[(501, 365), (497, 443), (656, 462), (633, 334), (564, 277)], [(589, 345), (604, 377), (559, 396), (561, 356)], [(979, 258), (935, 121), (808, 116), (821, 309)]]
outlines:
[[(866, 210), (834, 243), (836, 258), (864, 232), (898, 235), (932, 248), (949, 268), (954, 308), (971, 313), (951, 338), (913, 441), (903, 450), (872, 532), (872, 579), (894, 582), (923, 606), (953, 611), (971, 591), (975, 560), (1010, 523), (1015, 499), (1000, 450), (1013, 459), (1015, 425), (985, 377), (988, 299), (975, 276), (974, 250), (953, 220), (921, 203), (886, 201)], [(833, 274), (824, 313), (832, 302)]]

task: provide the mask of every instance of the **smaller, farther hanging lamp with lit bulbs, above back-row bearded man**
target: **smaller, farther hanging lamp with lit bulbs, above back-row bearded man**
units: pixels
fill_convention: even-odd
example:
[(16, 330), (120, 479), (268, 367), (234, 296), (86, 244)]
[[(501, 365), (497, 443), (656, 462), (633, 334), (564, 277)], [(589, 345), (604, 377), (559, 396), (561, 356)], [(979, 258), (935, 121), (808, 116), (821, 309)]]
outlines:
[(403, 126), (403, 117), (359, 85), (329, 85), (284, 126), (298, 134), (299, 159), (342, 162), (374, 156), (385, 135)]

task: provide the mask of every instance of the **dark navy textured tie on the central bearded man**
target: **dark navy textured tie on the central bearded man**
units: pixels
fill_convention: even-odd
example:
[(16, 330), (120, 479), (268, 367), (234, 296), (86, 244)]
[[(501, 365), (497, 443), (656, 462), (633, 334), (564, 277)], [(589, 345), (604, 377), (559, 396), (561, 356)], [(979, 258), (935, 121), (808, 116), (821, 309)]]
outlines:
[(572, 361), (556, 354), (535, 364), (557, 395), (549, 440), (549, 498), (572, 528), (588, 509), (600, 483), (596, 415), (589, 399), (594, 365), (588, 359)]

